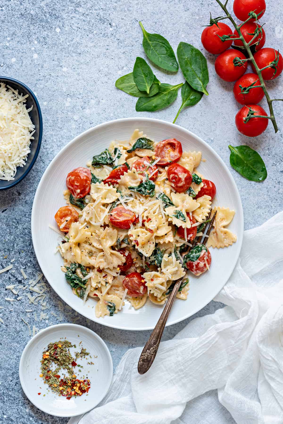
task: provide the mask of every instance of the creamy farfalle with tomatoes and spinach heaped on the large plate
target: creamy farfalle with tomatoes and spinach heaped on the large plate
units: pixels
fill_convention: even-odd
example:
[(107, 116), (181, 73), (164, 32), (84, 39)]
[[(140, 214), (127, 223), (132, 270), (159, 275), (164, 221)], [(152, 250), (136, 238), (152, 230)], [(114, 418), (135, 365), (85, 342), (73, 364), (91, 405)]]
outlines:
[(183, 152), (176, 139), (154, 142), (135, 130), (67, 175), (67, 206), (55, 215), (65, 233), (57, 250), (73, 293), (83, 302), (97, 300), (97, 317), (112, 316), (126, 303), (162, 305), (180, 278), (177, 298), (186, 299), (189, 272), (210, 268), (207, 247), (236, 241), (226, 228), (235, 212), (218, 206), (207, 247), (197, 243), (190, 250), (196, 234), (205, 237), (216, 193), (196, 171), (201, 158), (201, 152)]

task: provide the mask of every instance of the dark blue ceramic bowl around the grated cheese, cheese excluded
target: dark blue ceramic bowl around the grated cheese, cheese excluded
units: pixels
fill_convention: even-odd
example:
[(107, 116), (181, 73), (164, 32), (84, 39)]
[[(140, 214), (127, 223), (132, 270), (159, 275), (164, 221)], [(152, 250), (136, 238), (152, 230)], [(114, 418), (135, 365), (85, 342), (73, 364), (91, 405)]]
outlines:
[(31, 118), (31, 122), (35, 126), (35, 132), (33, 134), (34, 140), (31, 140), (31, 151), (28, 154), (25, 165), (23, 167), (17, 167), (17, 172), (14, 176), (14, 180), (0, 180), (0, 190), (6, 190), (8, 188), (14, 187), (16, 184), (22, 181), (22, 179), (24, 179), (25, 176), (28, 175), (29, 171), (34, 166), (34, 162), (36, 161), (36, 158), (38, 156), (42, 139), (42, 115), (37, 98), (31, 91), (31, 89), (29, 89), (25, 84), (22, 84), (22, 82), (17, 81), (14, 78), (0, 76), (0, 83), (1, 82), (6, 84), (6, 86), (9, 85), (13, 89), (18, 90), (20, 94), (28, 94), (28, 98), (26, 99), (25, 105), (27, 109), (33, 106), (31, 112), (29, 112), (29, 116)]

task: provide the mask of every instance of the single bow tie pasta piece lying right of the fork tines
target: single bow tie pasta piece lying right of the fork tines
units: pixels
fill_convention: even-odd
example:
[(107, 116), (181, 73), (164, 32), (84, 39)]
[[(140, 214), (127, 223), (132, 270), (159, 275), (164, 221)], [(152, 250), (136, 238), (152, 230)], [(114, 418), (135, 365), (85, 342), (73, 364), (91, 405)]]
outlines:
[(235, 211), (229, 208), (217, 207), (213, 209), (213, 213), (217, 210), (213, 223), (213, 230), (207, 240), (207, 247), (223, 248), (227, 247), (237, 240), (237, 236), (226, 227), (232, 221)]

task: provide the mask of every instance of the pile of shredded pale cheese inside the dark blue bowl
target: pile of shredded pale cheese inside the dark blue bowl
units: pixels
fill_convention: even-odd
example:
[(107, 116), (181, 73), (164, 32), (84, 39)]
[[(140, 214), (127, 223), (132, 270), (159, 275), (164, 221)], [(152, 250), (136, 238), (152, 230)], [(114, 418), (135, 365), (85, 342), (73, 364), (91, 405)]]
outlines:
[(0, 180), (14, 180), (18, 166), (24, 166), (34, 139), (34, 124), (25, 99), (17, 91), (0, 84)]

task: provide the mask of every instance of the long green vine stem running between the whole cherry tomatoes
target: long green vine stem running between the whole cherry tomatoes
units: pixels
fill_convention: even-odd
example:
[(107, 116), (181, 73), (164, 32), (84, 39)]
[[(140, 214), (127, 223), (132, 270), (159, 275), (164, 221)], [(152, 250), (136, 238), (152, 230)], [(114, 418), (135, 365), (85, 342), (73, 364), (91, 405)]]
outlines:
[[(228, 0), (226, 0), (225, 1), (225, 3), (223, 4), (223, 3), (221, 3), (221, 1), (220, 0), (216, 0), (217, 1), (217, 3), (219, 4), (219, 6), (222, 8), (222, 10), (226, 13), (226, 17), (222, 17), (222, 19), (229, 19), (230, 20), (230, 22), (232, 22), (232, 24), (233, 24), (233, 26), (235, 27), (235, 29), (236, 29), (236, 31), (238, 32), (238, 34), (239, 34), (239, 39), (241, 40), (241, 42), (243, 43), (243, 45), (244, 45), (244, 47), (245, 47), (245, 49), (247, 50), (247, 53), (248, 53), (248, 55), (249, 55), (249, 60), (252, 62), (252, 64), (254, 65), (254, 67), (255, 67), (255, 70), (256, 70), (256, 73), (258, 74), (258, 79), (259, 79), (259, 81), (260, 81), (260, 83), (261, 83), (261, 87), (262, 87), (262, 89), (263, 89), (263, 92), (264, 92), (264, 95), (265, 95), (265, 97), (266, 97), (266, 101), (267, 101), (267, 103), (268, 103), (268, 107), (269, 107), (269, 113), (270, 113), (270, 116), (266, 116), (266, 118), (268, 118), (268, 119), (270, 119), (271, 120), (271, 122), (272, 122), (272, 124), (273, 124), (273, 126), (274, 126), (274, 130), (275, 130), (275, 133), (277, 133), (277, 131), (278, 131), (278, 127), (277, 127), (277, 123), (276, 123), (276, 120), (275, 120), (275, 116), (274, 116), (274, 112), (273, 112), (273, 107), (272, 107), (272, 102), (274, 102), (274, 101), (277, 101), (277, 100), (283, 100), (283, 99), (271, 99), (270, 97), (269, 97), (269, 94), (268, 94), (268, 92), (267, 92), (267, 89), (266, 89), (266, 86), (265, 86), (265, 84), (264, 84), (264, 81), (263, 81), (263, 78), (262, 78), (262, 75), (261, 75), (261, 71), (263, 70), (263, 69), (265, 69), (265, 68), (263, 68), (263, 69), (260, 69), (259, 67), (258, 67), (258, 65), (256, 64), (256, 62), (255, 62), (255, 59), (254, 59), (254, 57), (253, 57), (253, 55), (252, 55), (252, 52), (251, 52), (251, 49), (249, 48), (249, 45), (250, 45), (250, 43), (247, 43), (246, 42), (246, 40), (244, 39), (244, 37), (243, 37), (243, 35), (242, 35), (242, 33), (241, 33), (241, 31), (240, 31), (240, 28), (241, 28), (241, 26), (242, 25), (244, 25), (244, 23), (246, 23), (246, 22), (248, 22), (249, 20), (251, 20), (252, 19), (252, 16), (250, 16), (245, 22), (242, 22), (241, 23), (241, 25), (237, 25), (236, 24), (236, 22), (234, 21), (234, 19), (233, 19), (233, 17), (230, 15), (230, 13), (227, 11), (227, 8), (226, 8), (226, 6), (227, 6), (227, 3), (228, 3)], [(221, 20), (221, 18), (219, 17), (219, 18), (216, 18), (216, 20), (217, 20), (217, 22), (219, 21), (219, 20)], [(257, 115), (256, 115), (257, 116)], [(255, 117), (256, 117), (255, 116)]]

